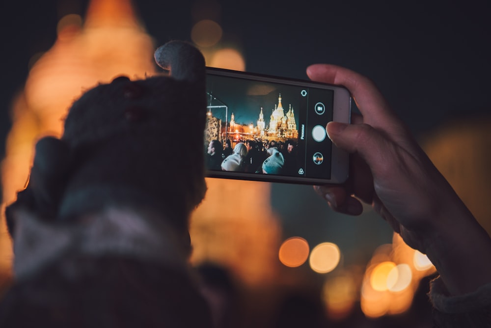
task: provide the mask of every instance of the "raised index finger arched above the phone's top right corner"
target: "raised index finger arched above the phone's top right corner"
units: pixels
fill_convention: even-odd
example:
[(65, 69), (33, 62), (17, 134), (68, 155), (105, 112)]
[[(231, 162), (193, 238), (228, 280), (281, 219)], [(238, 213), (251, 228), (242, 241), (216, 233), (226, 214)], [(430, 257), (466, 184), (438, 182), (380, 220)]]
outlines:
[(379, 89), (363, 75), (344, 67), (314, 64), (307, 67), (308, 77), (317, 82), (343, 85), (350, 90), (365, 123), (374, 127), (398, 125), (399, 120), (389, 108)]

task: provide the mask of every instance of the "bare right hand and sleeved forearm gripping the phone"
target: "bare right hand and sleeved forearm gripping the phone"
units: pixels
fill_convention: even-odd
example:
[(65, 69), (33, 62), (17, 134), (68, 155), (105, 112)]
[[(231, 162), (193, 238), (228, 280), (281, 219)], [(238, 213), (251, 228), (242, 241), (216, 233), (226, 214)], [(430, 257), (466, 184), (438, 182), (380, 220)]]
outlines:
[(367, 78), (326, 64), (307, 68), (314, 81), (346, 86), (362, 115), (329, 122), (332, 142), (352, 154), (350, 178), (316, 187), (335, 211), (362, 212), (361, 201), (426, 254), (439, 277), (430, 300), (437, 327), (491, 327), (491, 239)]

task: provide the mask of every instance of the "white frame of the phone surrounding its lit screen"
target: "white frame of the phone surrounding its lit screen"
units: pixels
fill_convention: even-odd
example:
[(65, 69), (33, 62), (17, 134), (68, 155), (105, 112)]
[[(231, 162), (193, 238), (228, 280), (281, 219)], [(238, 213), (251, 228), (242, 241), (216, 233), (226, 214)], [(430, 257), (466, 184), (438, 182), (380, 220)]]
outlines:
[[(233, 71), (222, 68), (206, 67), (206, 74), (222, 77), (239, 78), (258, 82), (283, 83), (301, 87), (315, 87), (333, 90), (332, 120), (342, 123), (351, 122), (351, 94), (348, 89), (339, 85), (332, 85), (316, 81), (300, 80), (293, 78), (277, 77), (265, 74), (257, 74), (242, 71)], [(307, 178), (285, 175), (270, 175), (246, 172), (206, 170), (206, 176), (210, 178), (225, 178), (235, 180), (296, 183), (296, 184), (341, 184), (345, 182), (349, 174), (349, 154), (332, 144), (331, 149), (331, 178)]]

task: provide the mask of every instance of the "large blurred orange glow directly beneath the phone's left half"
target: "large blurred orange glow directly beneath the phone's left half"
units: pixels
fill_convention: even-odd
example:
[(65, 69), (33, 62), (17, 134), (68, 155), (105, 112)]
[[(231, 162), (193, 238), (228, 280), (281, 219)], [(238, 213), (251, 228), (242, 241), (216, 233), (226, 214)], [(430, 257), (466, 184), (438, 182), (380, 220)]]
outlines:
[(249, 285), (277, 282), (281, 230), (271, 185), (212, 178), (206, 184), (205, 199), (191, 216), (191, 263), (221, 263)]

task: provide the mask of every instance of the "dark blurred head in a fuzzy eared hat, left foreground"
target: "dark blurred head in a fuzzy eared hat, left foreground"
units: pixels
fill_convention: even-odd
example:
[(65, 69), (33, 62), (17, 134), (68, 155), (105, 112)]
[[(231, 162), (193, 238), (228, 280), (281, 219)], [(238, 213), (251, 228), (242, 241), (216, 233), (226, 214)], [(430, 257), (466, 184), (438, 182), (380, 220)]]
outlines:
[[(76, 220), (108, 206), (148, 208), (188, 234), (188, 218), (206, 192), (205, 61), (191, 44), (178, 41), (160, 47), (155, 58), (172, 68), (170, 75), (136, 81), (120, 76), (99, 84), (72, 104), (61, 138), (38, 141), (31, 172), (36, 184), (27, 192), (50, 201), (36, 201), (36, 211)], [(174, 156), (162, 141), (175, 137), (162, 128), (169, 113), (186, 119), (190, 130), (183, 136), (186, 147), (175, 147)], [(183, 161), (186, 156), (192, 161)], [(21, 198), (15, 206), (26, 206)]]

